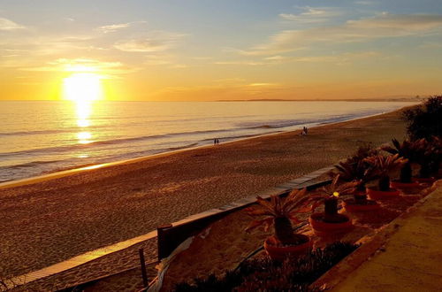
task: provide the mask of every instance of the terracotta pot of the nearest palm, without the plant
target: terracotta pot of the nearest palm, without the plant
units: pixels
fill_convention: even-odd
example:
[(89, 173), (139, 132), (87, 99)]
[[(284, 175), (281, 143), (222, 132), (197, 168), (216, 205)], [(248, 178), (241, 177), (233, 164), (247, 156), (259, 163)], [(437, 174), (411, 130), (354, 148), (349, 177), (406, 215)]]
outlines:
[(267, 251), (267, 254), (273, 260), (284, 260), (286, 257), (299, 257), (311, 250), (313, 242), (310, 241), (309, 236), (304, 234), (297, 234), (305, 239), (306, 242), (301, 243), (299, 245), (293, 246), (285, 246), (278, 247), (274, 245), (272, 242), (275, 242), (274, 236), (267, 238), (264, 242), (264, 249)]

